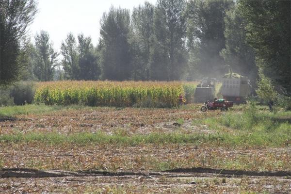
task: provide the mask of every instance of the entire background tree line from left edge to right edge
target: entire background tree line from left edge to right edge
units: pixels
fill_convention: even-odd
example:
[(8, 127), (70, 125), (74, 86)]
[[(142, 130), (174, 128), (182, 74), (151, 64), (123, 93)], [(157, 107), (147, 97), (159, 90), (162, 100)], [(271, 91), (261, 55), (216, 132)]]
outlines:
[[(9, 71), (41, 81), (194, 80), (221, 77), (231, 69), (252, 85), (268, 78), (275, 88), (291, 92), (289, 0), (157, 0), (131, 12), (111, 7), (100, 21), (97, 46), (90, 37), (69, 33), (60, 53), (48, 32), (36, 34), (33, 45), (22, 35), (36, 3), (12, 2), (0, 0), (3, 80), (9, 80)], [(13, 6), (27, 9), (27, 17), (14, 20)], [(6, 70), (4, 64), (14, 65)]]

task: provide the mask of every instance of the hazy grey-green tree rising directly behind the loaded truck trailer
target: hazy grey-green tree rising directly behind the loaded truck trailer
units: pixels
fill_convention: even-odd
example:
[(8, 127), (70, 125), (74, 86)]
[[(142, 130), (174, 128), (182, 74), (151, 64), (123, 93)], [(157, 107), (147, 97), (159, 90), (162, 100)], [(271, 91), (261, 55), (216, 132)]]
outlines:
[(255, 52), (246, 43), (245, 27), (246, 21), (240, 15), (237, 6), (226, 12), (224, 32), (226, 49), (222, 49), (221, 56), (233, 72), (247, 76), (251, 80), (251, 85), (256, 86), (258, 68), (255, 63)]

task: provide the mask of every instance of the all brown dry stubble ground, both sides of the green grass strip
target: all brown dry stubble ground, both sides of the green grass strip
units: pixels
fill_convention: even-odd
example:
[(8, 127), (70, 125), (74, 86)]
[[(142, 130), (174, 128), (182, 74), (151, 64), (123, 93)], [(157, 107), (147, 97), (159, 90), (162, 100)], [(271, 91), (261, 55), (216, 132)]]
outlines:
[[(194, 109), (68, 110), (3, 119), (0, 133), (209, 134), (215, 131), (193, 120), (219, 114)], [(290, 147), (0, 142), (0, 166), (0, 193), (291, 193)]]

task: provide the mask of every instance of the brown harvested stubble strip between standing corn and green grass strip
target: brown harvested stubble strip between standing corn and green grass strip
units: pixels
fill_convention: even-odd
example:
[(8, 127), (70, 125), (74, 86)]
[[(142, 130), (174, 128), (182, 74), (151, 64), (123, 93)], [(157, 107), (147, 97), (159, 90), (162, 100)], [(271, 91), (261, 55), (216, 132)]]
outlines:
[[(198, 119), (217, 114), (220, 113), (197, 113), (195, 109), (181, 111), (179, 109), (92, 108), (3, 119), (1, 134), (52, 131), (63, 134), (102, 131), (112, 134), (120, 129), (124, 129), (129, 134), (173, 132), (178, 129), (194, 132), (206, 129), (204, 126), (189, 125), (194, 117)], [(179, 128), (181, 124), (174, 125), (178, 119), (183, 119), (185, 122), (182, 128)]]

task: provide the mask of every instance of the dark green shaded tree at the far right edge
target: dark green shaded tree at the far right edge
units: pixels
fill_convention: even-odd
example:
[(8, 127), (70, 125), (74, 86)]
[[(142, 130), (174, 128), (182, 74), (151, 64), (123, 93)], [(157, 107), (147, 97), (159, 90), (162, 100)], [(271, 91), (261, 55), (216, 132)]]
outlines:
[(291, 1), (240, 0), (238, 5), (247, 23), (246, 40), (256, 51), (262, 74), (273, 81), (277, 90), (290, 93)]

